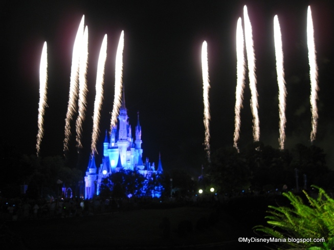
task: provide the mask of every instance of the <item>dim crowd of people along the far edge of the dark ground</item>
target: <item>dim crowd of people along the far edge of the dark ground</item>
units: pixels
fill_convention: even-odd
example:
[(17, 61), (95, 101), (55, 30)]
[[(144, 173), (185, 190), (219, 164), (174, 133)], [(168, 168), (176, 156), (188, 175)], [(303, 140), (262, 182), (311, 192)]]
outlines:
[(122, 212), (127, 210), (144, 208), (149, 205), (154, 206), (168, 204), (215, 201), (217, 197), (203, 198), (205, 195), (175, 198), (169, 197), (164, 200), (150, 197), (131, 198), (109, 198), (102, 199), (99, 196), (93, 199), (74, 198), (48, 198), (48, 199), (28, 199), (15, 198), (6, 199), (0, 197), (0, 220), (19, 219), (41, 219), (41, 218), (69, 218), (89, 216), (101, 213)]

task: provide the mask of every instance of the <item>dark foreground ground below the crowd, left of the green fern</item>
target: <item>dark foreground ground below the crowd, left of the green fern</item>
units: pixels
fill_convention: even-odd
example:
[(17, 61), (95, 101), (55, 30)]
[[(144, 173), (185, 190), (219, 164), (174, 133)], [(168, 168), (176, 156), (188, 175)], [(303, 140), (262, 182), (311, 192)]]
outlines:
[[(265, 224), (265, 211), (269, 204), (277, 205), (277, 199), (282, 202), (281, 196), (243, 197), (219, 207), (206, 204), (5, 221), (1, 249), (268, 249), (269, 244), (238, 242), (238, 238), (260, 238), (252, 228)], [(169, 237), (159, 227), (164, 217), (170, 221)], [(184, 220), (191, 222), (192, 231), (179, 229)]]

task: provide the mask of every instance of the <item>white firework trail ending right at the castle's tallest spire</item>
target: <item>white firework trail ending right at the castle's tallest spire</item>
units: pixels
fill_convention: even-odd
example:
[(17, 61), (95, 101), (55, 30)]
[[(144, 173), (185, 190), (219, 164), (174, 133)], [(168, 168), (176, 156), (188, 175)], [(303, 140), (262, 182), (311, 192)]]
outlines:
[(123, 86), (123, 48), (124, 48), (124, 31), (121, 33), (120, 41), (117, 47), (116, 53), (116, 65), (115, 65), (115, 96), (114, 96), (114, 105), (112, 111), (112, 119), (110, 121), (110, 131), (117, 124), (117, 117), (121, 107), (122, 99), (122, 86)]

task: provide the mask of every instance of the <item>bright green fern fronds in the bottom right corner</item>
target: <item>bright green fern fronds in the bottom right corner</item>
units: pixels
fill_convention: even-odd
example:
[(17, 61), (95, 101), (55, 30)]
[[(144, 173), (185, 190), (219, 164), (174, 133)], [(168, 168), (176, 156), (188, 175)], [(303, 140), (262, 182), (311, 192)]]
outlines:
[[(267, 223), (271, 227), (256, 226), (255, 230), (266, 236), (278, 239), (286, 239), (279, 249), (332, 249), (334, 247), (334, 200), (326, 192), (317, 186), (319, 190), (317, 198), (311, 197), (303, 191), (308, 205), (300, 196), (292, 192), (283, 193), (290, 200), (291, 207), (274, 207), (268, 211)], [(294, 239), (320, 239), (325, 242), (288, 242), (288, 238)]]

